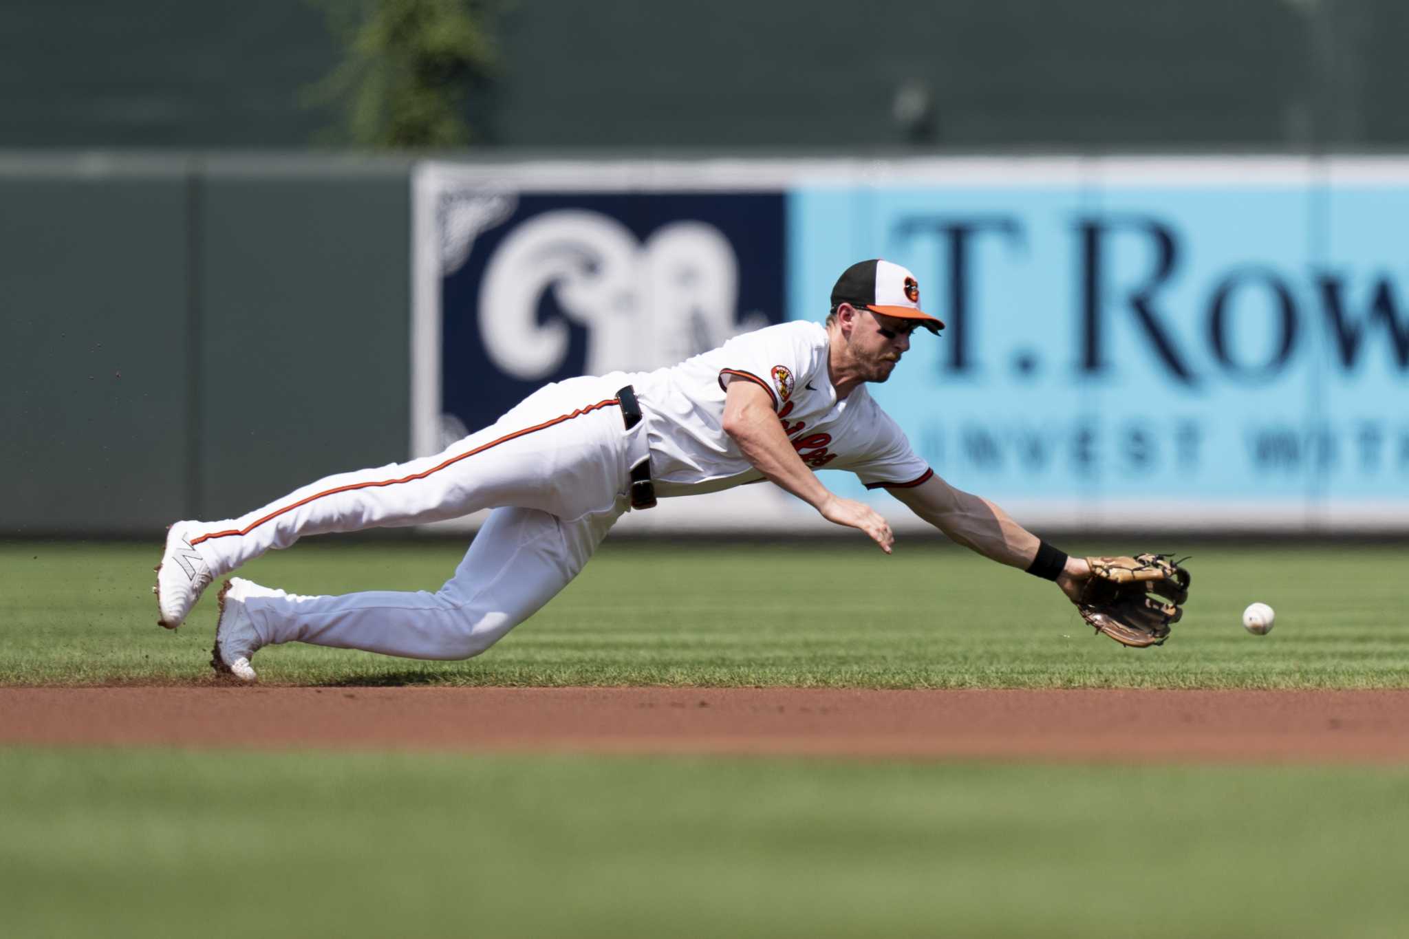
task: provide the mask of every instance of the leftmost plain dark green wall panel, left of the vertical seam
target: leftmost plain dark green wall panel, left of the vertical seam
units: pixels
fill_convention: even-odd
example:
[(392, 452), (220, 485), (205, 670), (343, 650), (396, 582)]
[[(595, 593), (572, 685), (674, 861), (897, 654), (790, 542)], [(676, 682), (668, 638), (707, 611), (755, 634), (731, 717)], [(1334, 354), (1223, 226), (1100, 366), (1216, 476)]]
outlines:
[(179, 169), (0, 176), (0, 534), (139, 531), (185, 507), (185, 191)]

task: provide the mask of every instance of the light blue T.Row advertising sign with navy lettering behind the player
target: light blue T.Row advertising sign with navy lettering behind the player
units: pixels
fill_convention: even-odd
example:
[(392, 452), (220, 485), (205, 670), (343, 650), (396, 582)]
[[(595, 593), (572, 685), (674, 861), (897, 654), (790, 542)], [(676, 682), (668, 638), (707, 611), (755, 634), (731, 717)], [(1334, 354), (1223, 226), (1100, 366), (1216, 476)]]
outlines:
[(948, 329), (874, 393), (1024, 519), (1409, 525), (1409, 162), (898, 163), (789, 225), (795, 318), (919, 275)]

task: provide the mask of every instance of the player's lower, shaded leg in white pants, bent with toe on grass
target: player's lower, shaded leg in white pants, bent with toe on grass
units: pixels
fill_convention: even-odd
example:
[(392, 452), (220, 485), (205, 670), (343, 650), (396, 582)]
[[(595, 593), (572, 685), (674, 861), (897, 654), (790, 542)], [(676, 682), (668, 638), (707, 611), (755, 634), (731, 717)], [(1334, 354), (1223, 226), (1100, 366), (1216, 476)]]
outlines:
[(496, 508), (437, 593), (300, 597), (237, 579), (224, 595), (213, 664), (230, 672), (255, 649), (282, 642), (409, 659), (476, 656), (566, 587), (623, 511), (624, 498), (571, 522), (533, 508)]

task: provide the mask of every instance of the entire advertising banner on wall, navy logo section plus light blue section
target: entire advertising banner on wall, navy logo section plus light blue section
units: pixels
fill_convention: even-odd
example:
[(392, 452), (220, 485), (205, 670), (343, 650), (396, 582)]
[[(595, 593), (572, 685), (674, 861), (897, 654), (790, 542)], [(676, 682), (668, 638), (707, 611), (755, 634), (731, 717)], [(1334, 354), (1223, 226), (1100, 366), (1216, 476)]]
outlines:
[[(472, 237), (454, 270), (442, 260), (430, 284), (447, 374), (441, 432), (459, 429), (455, 417), (469, 428), (493, 420), (537, 383), (606, 370), (599, 362), (654, 367), (779, 315), (821, 321), (837, 273), (882, 256), (916, 272), (924, 308), (948, 328), (916, 336), (872, 394), (937, 473), (1024, 524), (1409, 527), (1409, 162), (733, 170), (724, 179), (692, 163), (583, 166), (576, 189), (559, 169), (550, 175), (557, 189), (535, 193), (534, 172), (517, 168), (520, 182), (496, 190), (511, 193), (513, 207), (495, 210), (502, 218), (471, 213), (497, 221)], [(437, 191), (444, 206), (447, 191), (486, 190)], [(437, 211), (444, 255), (447, 231), (475, 224)], [(559, 245), (558, 260), (545, 260), (548, 244)], [(593, 260), (572, 260), (575, 251)], [(652, 293), (672, 263), (714, 280), (697, 286), (690, 313)], [(614, 273), (583, 283), (583, 270)], [(637, 320), (620, 334), (631, 341), (610, 338), (604, 307), (592, 307), (612, 276), (633, 284), (623, 303)], [(455, 379), (452, 366), (464, 369)], [(906, 527), (889, 497), (865, 494), (844, 473), (824, 479)], [(728, 496), (676, 501), (712, 503), (700, 524), (728, 528), (738, 518), (713, 504)], [(745, 518), (762, 529), (814, 522), (776, 496)], [(641, 515), (666, 522), (683, 510)]]

